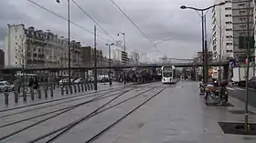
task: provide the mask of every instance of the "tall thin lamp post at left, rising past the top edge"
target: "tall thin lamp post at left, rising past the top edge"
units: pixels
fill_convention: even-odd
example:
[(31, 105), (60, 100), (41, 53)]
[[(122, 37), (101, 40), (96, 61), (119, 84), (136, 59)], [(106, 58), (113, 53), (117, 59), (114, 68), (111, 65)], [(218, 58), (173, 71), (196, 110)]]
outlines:
[[(69, 35), (69, 41), (68, 41), (68, 52), (69, 52), (69, 87), (71, 83), (71, 69), (70, 69), (70, 1), (68, 1), (68, 35)], [(57, 3), (60, 3), (60, 0), (56, 0)]]

